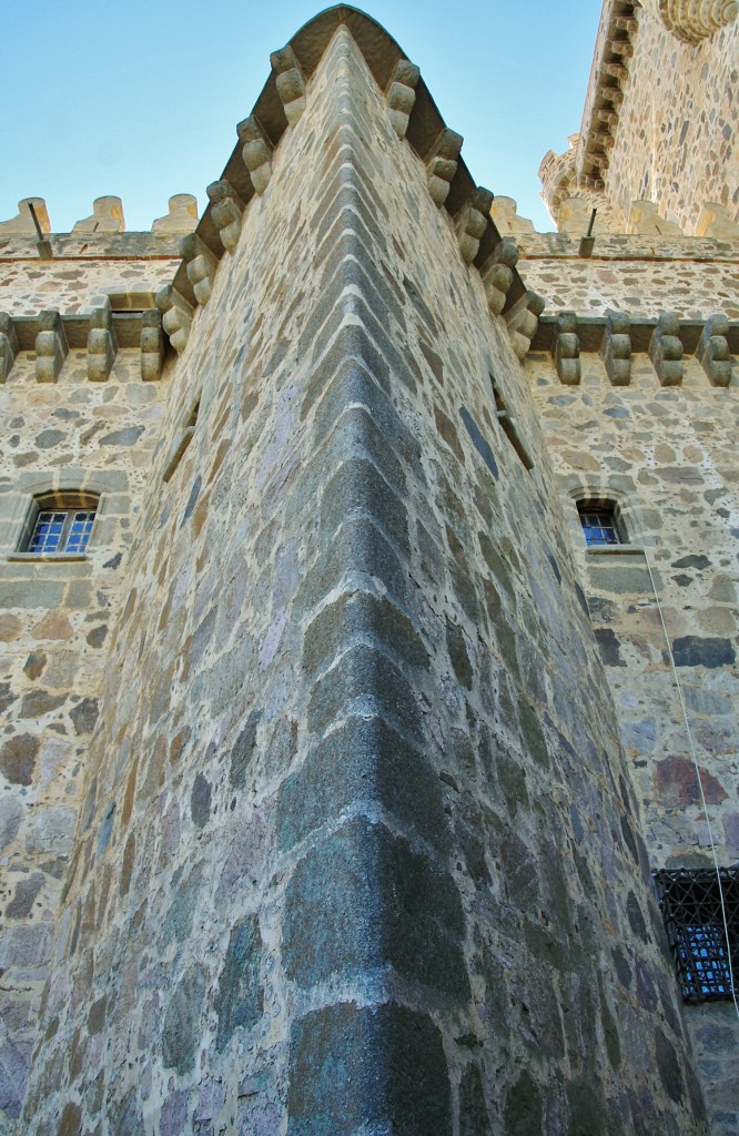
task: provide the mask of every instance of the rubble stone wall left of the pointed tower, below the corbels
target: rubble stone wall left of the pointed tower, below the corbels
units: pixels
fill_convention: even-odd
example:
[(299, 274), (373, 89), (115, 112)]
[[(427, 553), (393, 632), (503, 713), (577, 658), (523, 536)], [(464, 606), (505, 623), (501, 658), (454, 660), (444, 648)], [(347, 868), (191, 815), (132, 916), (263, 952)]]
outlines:
[[(43, 303), (44, 298), (40, 298)], [(102, 661), (166, 384), (121, 350), (107, 383), (72, 350), (56, 383), (18, 354), (0, 385), (0, 1130), (20, 1112), (98, 718)], [(86, 557), (17, 556), (33, 496), (100, 494)], [(23, 1130), (23, 1129), (19, 1129)], [(25, 1129), (27, 1130), (27, 1129)]]

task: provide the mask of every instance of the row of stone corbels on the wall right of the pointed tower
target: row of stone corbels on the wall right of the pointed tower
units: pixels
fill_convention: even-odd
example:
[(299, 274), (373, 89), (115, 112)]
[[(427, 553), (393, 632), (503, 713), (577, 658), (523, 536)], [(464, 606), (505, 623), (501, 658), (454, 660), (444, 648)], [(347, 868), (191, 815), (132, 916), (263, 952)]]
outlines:
[[(534, 348), (543, 346), (542, 341), (548, 343), (559, 381), (566, 386), (580, 383), (581, 350), (599, 351), (612, 386), (630, 384), (634, 351), (649, 356), (662, 386), (680, 386), (686, 350), (695, 352), (712, 386), (729, 386), (732, 375), (730, 337), (732, 325), (721, 312), (703, 324), (681, 320), (674, 311), (663, 312), (656, 321), (632, 324), (621, 311), (608, 311), (605, 320), (579, 319), (574, 311), (562, 311), (540, 329)], [(739, 342), (736, 325), (733, 339)]]

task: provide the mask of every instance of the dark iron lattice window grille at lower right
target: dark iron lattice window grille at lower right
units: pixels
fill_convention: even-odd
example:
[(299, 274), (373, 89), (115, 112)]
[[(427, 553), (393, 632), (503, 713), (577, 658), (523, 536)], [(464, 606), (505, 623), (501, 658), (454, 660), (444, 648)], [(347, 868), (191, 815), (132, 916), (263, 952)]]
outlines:
[(721, 868), (719, 876), (729, 943), (713, 869), (680, 868), (654, 874), (686, 1002), (731, 999), (731, 974), (734, 980), (739, 976), (739, 868)]

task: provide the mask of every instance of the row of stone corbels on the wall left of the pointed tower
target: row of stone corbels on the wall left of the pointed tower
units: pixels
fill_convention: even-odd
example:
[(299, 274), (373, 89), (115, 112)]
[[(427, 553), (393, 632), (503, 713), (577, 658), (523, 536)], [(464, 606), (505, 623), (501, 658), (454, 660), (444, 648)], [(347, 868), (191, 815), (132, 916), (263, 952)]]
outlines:
[(15, 319), (0, 312), (0, 383), (8, 381), (22, 351), (35, 352), (38, 383), (56, 383), (69, 351), (80, 348), (86, 348), (89, 382), (105, 383), (118, 350), (136, 345), (141, 350), (141, 377), (156, 382), (161, 377), (166, 339), (161, 316), (153, 309), (144, 311), (140, 323), (128, 312), (111, 311), (107, 298), (86, 317), (65, 318), (52, 309), (41, 311), (38, 317)]

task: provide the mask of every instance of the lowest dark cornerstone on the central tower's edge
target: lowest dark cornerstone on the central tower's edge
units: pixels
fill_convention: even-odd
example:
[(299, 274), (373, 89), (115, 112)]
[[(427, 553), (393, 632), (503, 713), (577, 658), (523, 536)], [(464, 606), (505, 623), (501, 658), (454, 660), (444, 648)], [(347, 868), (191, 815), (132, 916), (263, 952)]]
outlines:
[(293, 1027), (289, 1136), (451, 1136), (437, 1026), (405, 1006), (332, 1005)]

